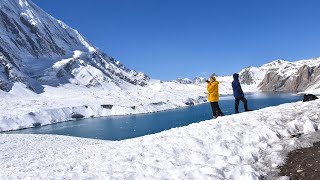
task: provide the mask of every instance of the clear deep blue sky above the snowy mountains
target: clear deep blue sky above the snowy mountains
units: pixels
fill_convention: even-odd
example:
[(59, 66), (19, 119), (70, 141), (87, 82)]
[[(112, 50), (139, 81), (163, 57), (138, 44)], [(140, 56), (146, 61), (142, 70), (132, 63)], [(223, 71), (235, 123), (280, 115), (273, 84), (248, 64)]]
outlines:
[(318, 0), (33, 0), (152, 78), (230, 75), (320, 56)]

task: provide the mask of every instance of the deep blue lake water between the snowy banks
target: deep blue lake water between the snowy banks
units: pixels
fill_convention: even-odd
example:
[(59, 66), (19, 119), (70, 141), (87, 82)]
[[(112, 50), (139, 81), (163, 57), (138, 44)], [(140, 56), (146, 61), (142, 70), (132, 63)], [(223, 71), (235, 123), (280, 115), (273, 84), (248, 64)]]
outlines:
[[(283, 103), (302, 100), (301, 96), (288, 93), (247, 94), (249, 108), (252, 110)], [(225, 115), (234, 113), (233, 96), (223, 96), (219, 105)], [(240, 102), (239, 111), (243, 111)], [(123, 140), (147, 134), (154, 134), (175, 127), (212, 118), (209, 103), (142, 115), (111, 116), (102, 118), (68, 121), (39, 128), (13, 131), (13, 134), (58, 134), (103, 140)]]

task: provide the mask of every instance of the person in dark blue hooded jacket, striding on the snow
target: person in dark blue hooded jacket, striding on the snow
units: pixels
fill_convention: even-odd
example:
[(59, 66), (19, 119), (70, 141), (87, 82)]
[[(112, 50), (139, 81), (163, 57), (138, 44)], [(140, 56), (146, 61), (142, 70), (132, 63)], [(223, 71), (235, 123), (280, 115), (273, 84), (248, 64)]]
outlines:
[(242, 91), (240, 82), (239, 82), (239, 74), (233, 74), (233, 81), (232, 81), (232, 89), (233, 89), (233, 96), (235, 98), (235, 113), (239, 113), (239, 102), (242, 101), (244, 104), (244, 110), (251, 111), (248, 109), (248, 100), (244, 97), (244, 93)]

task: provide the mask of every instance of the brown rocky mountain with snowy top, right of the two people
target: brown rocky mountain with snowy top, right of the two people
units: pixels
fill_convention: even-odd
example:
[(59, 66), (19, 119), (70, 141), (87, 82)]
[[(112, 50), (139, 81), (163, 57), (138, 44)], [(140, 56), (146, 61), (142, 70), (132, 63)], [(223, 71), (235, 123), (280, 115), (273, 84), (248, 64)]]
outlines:
[(240, 71), (243, 84), (256, 84), (262, 91), (308, 91), (320, 89), (320, 58), (288, 62), (276, 60)]

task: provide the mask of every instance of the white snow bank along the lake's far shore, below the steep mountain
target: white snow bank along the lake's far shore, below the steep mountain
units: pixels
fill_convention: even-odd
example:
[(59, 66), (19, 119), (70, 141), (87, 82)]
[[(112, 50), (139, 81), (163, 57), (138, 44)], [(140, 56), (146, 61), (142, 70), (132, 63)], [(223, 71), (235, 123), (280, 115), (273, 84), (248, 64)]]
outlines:
[[(221, 94), (232, 93), (231, 80), (221, 82)], [(9, 93), (0, 91), (0, 132), (75, 120), (74, 114), (90, 118), (158, 112), (200, 104), (206, 98), (206, 83), (153, 82), (129, 90), (121, 90), (112, 84), (100, 88), (67, 84), (45, 86), (42, 94), (15, 83)]]

